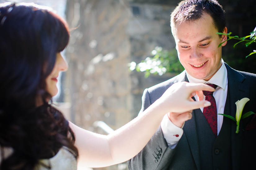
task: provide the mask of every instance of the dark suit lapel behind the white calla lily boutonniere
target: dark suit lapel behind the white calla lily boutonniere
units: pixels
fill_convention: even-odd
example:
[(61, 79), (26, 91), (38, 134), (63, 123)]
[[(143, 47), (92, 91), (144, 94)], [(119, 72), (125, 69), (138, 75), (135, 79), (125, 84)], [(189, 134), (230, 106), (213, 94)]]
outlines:
[[(229, 90), (229, 101), (230, 104), (226, 102), (224, 113), (236, 117), (236, 104), (237, 100), (249, 96), (249, 88), (243, 84), (245, 77), (241, 75), (236, 70), (229, 67), (226, 63), (227, 77), (228, 77), (228, 90)], [(240, 121), (240, 127), (243, 127), (243, 121)], [(232, 169), (240, 169), (240, 157), (241, 157), (241, 139), (242, 131), (238, 134), (236, 131), (236, 123), (232, 121), (231, 123), (231, 157), (232, 157)]]

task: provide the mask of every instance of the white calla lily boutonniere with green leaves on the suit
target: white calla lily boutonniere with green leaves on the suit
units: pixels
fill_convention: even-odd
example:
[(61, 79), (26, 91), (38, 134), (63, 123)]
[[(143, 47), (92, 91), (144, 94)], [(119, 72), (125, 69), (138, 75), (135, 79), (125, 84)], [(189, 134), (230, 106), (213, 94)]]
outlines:
[(242, 112), (243, 112), (243, 109), (245, 107), (245, 104), (249, 101), (250, 99), (249, 98), (242, 98), (241, 100), (237, 100), (237, 102), (235, 103), (236, 104), (236, 119), (233, 117), (233, 116), (230, 116), (230, 115), (225, 115), (225, 114), (218, 114), (218, 115), (223, 115), (223, 116), (226, 116), (232, 120), (234, 120), (236, 122), (236, 133), (239, 132), (239, 123), (240, 123), (240, 120), (241, 119), (244, 119), (252, 114), (255, 114), (254, 112), (252, 111), (249, 111), (247, 113), (245, 113), (243, 116), (242, 116)]

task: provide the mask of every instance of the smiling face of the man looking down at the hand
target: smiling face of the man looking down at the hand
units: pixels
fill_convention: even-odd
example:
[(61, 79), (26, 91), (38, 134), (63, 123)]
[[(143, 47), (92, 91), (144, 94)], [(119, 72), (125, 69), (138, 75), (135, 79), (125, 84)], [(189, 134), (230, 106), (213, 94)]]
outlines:
[[(206, 13), (195, 21), (178, 22), (175, 27), (174, 38), (182, 66), (191, 76), (208, 81), (221, 66), (221, 47), (218, 45), (227, 36), (216, 34), (218, 30), (213, 19)], [(223, 33), (227, 33), (227, 28)]]

